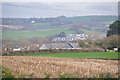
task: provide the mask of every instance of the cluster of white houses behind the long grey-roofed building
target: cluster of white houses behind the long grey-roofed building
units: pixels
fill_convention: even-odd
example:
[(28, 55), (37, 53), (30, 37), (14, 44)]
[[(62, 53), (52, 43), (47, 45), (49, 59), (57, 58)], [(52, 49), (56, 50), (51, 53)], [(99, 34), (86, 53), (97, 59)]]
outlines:
[(66, 34), (66, 36), (58, 36), (51, 40), (51, 42), (65, 42), (65, 41), (75, 41), (75, 40), (85, 40), (85, 39), (101, 39), (104, 38), (105, 35), (103, 34)]

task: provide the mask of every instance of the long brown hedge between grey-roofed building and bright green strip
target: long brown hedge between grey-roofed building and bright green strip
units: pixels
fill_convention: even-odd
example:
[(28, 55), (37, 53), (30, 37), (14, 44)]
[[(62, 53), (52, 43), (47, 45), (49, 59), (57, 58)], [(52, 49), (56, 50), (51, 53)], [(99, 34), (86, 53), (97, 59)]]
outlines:
[(71, 53), (71, 52), (105, 52), (104, 49), (43, 49), (43, 50), (24, 50), (24, 51), (6, 51), (2, 55), (20, 55), (20, 54), (50, 54), (50, 53)]

